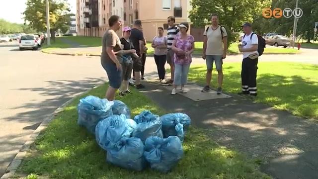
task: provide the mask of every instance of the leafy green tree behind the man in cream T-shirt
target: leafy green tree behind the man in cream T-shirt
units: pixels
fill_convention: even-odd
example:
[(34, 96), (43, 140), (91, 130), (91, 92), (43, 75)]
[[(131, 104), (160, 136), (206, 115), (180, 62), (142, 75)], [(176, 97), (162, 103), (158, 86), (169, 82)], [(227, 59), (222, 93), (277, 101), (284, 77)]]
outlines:
[(210, 23), (211, 14), (217, 13), (228, 31), (229, 44), (237, 40), (243, 22), (252, 22), (255, 14), (270, 5), (271, 0), (192, 0), (189, 18), (196, 27)]

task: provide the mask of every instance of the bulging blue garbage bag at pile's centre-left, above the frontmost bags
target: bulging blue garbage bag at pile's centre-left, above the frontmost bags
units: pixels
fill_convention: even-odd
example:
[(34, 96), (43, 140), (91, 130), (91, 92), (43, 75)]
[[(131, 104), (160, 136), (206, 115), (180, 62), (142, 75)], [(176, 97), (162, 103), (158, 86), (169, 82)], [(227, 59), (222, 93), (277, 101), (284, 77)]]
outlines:
[(96, 142), (102, 149), (111, 150), (121, 139), (131, 137), (135, 127), (136, 122), (124, 114), (112, 115), (96, 125)]

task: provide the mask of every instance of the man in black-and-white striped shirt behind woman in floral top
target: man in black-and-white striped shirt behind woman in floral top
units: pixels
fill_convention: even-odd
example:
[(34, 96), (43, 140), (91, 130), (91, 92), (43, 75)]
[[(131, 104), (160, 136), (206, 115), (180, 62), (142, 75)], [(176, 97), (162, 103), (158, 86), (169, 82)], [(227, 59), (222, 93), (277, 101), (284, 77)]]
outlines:
[(174, 62), (173, 62), (173, 56), (174, 52), (171, 49), (172, 42), (174, 40), (174, 37), (179, 33), (179, 28), (175, 25), (175, 17), (169, 16), (167, 18), (167, 22), (169, 25), (169, 28), (167, 29), (167, 63), (170, 65), (170, 71), (171, 71), (171, 79), (166, 82), (166, 85), (172, 85), (173, 78), (174, 78)]

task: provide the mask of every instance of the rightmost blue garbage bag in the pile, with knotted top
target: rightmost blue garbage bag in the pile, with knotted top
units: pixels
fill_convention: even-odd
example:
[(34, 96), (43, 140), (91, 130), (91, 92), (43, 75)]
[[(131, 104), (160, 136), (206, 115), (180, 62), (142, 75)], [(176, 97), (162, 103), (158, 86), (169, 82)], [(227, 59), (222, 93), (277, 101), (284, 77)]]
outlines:
[(185, 132), (191, 124), (190, 117), (184, 113), (173, 113), (165, 114), (160, 118), (162, 120), (163, 137), (178, 136), (183, 142)]

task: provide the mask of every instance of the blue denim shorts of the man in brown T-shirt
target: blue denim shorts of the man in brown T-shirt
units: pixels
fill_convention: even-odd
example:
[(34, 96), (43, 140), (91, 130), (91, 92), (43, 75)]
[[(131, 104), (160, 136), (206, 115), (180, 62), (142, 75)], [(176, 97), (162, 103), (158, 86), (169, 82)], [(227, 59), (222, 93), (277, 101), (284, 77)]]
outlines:
[(122, 82), (123, 72), (121, 70), (117, 70), (116, 64), (111, 62), (101, 63), (101, 65), (107, 73), (109, 86), (114, 89), (119, 89)]

